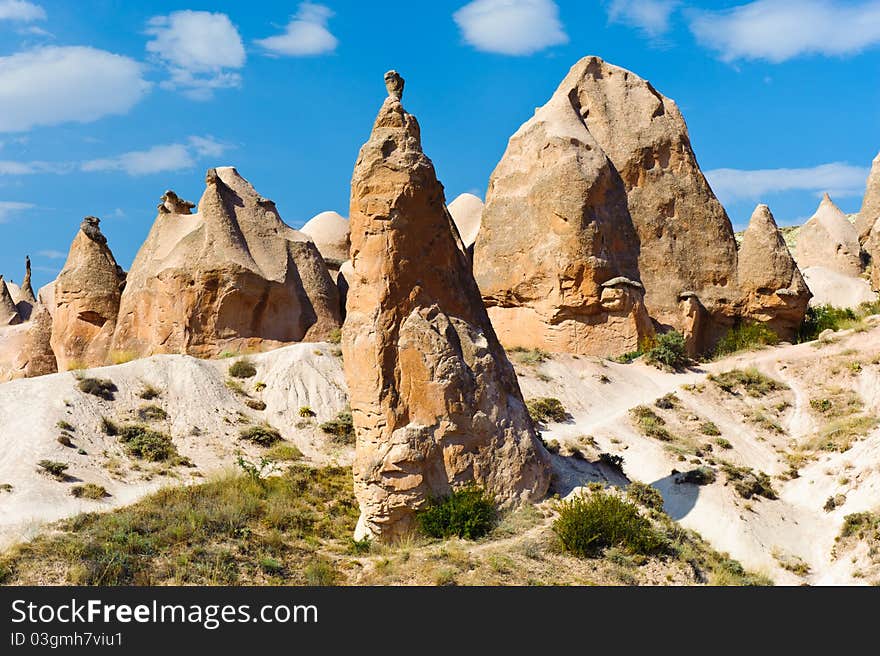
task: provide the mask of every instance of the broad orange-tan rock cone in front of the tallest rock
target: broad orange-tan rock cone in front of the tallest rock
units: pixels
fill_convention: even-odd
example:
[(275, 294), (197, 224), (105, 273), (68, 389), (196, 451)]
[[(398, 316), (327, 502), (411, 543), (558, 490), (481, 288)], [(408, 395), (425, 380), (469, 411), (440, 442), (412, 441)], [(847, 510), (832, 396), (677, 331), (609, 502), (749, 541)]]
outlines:
[(608, 355), (653, 334), (626, 189), (584, 111), (564, 84), (489, 180), (474, 275), (507, 347)]

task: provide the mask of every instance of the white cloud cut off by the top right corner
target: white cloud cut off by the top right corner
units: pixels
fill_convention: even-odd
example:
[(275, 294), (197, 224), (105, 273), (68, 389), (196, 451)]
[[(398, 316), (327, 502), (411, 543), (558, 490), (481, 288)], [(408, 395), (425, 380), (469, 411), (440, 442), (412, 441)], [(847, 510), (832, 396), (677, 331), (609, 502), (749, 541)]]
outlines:
[(851, 55), (880, 43), (880, 1), (757, 0), (690, 13), (691, 31), (725, 61)]

